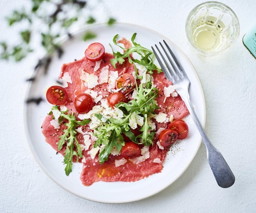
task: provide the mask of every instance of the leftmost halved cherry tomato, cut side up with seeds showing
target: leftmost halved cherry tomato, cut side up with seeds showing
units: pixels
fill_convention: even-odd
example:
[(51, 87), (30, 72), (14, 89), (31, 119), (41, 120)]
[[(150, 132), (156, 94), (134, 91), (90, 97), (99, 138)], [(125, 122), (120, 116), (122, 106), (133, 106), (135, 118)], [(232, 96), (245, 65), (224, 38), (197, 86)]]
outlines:
[(66, 103), (67, 98), (66, 90), (60, 86), (52, 86), (46, 92), (46, 99), (50, 104), (60, 106)]

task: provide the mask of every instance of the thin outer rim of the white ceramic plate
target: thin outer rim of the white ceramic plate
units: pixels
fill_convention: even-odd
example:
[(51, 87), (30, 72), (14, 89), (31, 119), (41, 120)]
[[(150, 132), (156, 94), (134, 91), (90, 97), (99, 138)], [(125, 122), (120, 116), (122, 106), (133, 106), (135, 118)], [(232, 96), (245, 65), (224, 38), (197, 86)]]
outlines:
[[(170, 39), (168, 39), (168, 37), (162, 35), (161, 33), (151, 29), (151, 28), (148, 28), (148, 27), (145, 27), (145, 26), (141, 26), (141, 25), (137, 25), (137, 24), (131, 24), (131, 23), (127, 23), (127, 22), (116, 22), (114, 25), (127, 25), (127, 26), (131, 26), (131, 27), (139, 27), (139, 28), (142, 28), (143, 30), (146, 30), (146, 31), (149, 31), (151, 33), (154, 33), (156, 35), (158, 35), (159, 37), (161, 37), (162, 39), (165, 39), (167, 42), (169, 43), (172, 43), (176, 49), (180, 52), (181, 55), (183, 55), (184, 58), (187, 59), (187, 62), (194, 68), (193, 69), (193, 72), (199, 82), (199, 86), (200, 86), (200, 90), (198, 91), (202, 97), (202, 101), (203, 101), (203, 123), (202, 123), (202, 126), (203, 128), (205, 127), (205, 122), (206, 122), (206, 103), (205, 103), (205, 95), (204, 95), (204, 91), (203, 91), (203, 87), (202, 87), (202, 82), (198, 76), (198, 73), (194, 67), (194, 65), (191, 63), (191, 61), (189, 60), (189, 58), (186, 56), (186, 54), (175, 44), (173, 43)], [(85, 30), (88, 30), (92, 27), (106, 27), (106, 23), (98, 23), (98, 24), (95, 24), (95, 25), (91, 25), (91, 26), (86, 26), (86, 27), (83, 27), (79, 30), (76, 30), (74, 32), (72, 32), (72, 34), (74, 36), (76, 35), (79, 35), (81, 32), (85, 31)], [(60, 44), (62, 44), (63, 42), (66, 42), (68, 40), (68, 36), (65, 36), (61, 41), (60, 41)], [(48, 54), (45, 54), (43, 57), (46, 57)], [(32, 73), (31, 77), (33, 77), (35, 75), (35, 72)], [(32, 82), (30, 81), (28, 83), (28, 86), (27, 86), (27, 90), (26, 90), (26, 93), (25, 93), (25, 100), (28, 98), (29, 96), (29, 92), (30, 92), (30, 88), (32, 86)], [(89, 198), (89, 197), (86, 197), (86, 196), (83, 196), (79, 193), (76, 193), (70, 189), (68, 189), (66, 186), (58, 183), (48, 172), (47, 170), (44, 168), (44, 165), (41, 161), (39, 161), (39, 159), (37, 158), (37, 156), (35, 155), (35, 151), (34, 151), (34, 148), (32, 146), (32, 140), (30, 139), (30, 136), (29, 136), (29, 127), (27, 125), (28, 123), (28, 120), (27, 120), (27, 116), (26, 116), (26, 113), (27, 113), (27, 105), (24, 104), (24, 108), (23, 108), (23, 120), (24, 120), (24, 126), (25, 126), (25, 134), (26, 134), (26, 138), (27, 138), (27, 143), (28, 143), (28, 146), (29, 146), (29, 149), (30, 151), (32, 152), (32, 155), (35, 159), (35, 161), (38, 163), (38, 165), (40, 166), (40, 168), (44, 171), (44, 173), (53, 181), (55, 182), (58, 186), (60, 186), (61, 188), (65, 189), (66, 191), (68, 191), (69, 193), (73, 194), (73, 195), (76, 195), (77, 197), (81, 197), (83, 199), (86, 199), (86, 200), (90, 200), (90, 201), (94, 201), (94, 202), (99, 202), (99, 203), (111, 203), (111, 204), (117, 204), (117, 203), (129, 203), (129, 202), (135, 202), (135, 201), (139, 201), (139, 200), (143, 200), (143, 199), (146, 199), (148, 197), (152, 197), (156, 194), (158, 194), (159, 192), (163, 191), (164, 189), (166, 189), (167, 187), (171, 186), (174, 182), (177, 181), (177, 179), (179, 179), (182, 174), (187, 170), (187, 168), (190, 166), (191, 162), (193, 161), (193, 159), (195, 158), (196, 154), (198, 153), (198, 150), (199, 150), (199, 147), (201, 146), (201, 143), (202, 143), (202, 139), (200, 141), (200, 143), (198, 143), (198, 146), (196, 147), (196, 152), (194, 152), (193, 154), (193, 157), (190, 159), (190, 161), (188, 162), (187, 166), (185, 166), (182, 171), (180, 172), (180, 174), (178, 176), (176, 176), (175, 180), (172, 182), (172, 183), (167, 183), (165, 184), (163, 187), (159, 188), (156, 192), (154, 193), (151, 193), (151, 194), (147, 194), (141, 198), (137, 198), (137, 199), (130, 199), (130, 200), (126, 200), (126, 201), (116, 201), (116, 202), (108, 202), (108, 201), (104, 201), (104, 200), (97, 200), (97, 199), (92, 199), (92, 198)]]

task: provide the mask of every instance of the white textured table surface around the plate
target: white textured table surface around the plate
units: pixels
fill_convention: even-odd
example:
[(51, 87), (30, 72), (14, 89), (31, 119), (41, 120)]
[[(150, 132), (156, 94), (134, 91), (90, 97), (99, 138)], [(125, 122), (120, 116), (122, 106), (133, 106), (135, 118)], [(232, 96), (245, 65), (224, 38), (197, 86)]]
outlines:
[[(201, 58), (188, 47), (185, 20), (199, 0), (114, 1), (106, 11), (118, 21), (152, 28), (177, 44), (194, 64), (207, 104), (205, 130), (236, 176), (230, 188), (220, 188), (208, 165), (202, 144), (186, 172), (170, 187), (145, 200), (102, 204), (76, 197), (59, 187), (35, 162), (23, 125), (27, 84), (42, 53), (34, 51), (21, 63), (1, 63), (1, 176), (0, 212), (255, 212), (256, 210), (256, 60), (242, 44), (243, 35), (256, 20), (255, 0), (225, 0), (240, 21), (237, 43), (214, 58)], [(19, 28), (9, 28), (4, 17), (29, 1), (0, 1), (0, 40), (15, 42)], [(99, 9), (100, 10), (100, 9)], [(101, 15), (102, 14), (102, 15)], [(241, 77), (239, 77), (241, 76)]]

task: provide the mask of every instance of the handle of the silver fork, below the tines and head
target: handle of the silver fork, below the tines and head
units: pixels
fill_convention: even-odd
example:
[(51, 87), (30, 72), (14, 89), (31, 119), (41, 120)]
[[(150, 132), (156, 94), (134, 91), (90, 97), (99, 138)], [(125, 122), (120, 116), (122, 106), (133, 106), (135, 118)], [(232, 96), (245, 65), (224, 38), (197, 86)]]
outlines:
[(189, 100), (189, 95), (187, 93), (187, 97), (183, 97), (183, 100), (188, 108), (188, 111), (193, 118), (200, 135), (202, 136), (203, 142), (206, 147), (207, 151), (207, 158), (214, 174), (214, 177), (217, 181), (217, 184), (222, 188), (228, 188), (232, 186), (235, 182), (234, 174), (232, 173), (231, 169), (229, 168), (227, 162), (225, 161), (222, 154), (213, 146), (209, 138), (207, 137), (202, 124), (200, 123), (194, 107), (191, 105)]

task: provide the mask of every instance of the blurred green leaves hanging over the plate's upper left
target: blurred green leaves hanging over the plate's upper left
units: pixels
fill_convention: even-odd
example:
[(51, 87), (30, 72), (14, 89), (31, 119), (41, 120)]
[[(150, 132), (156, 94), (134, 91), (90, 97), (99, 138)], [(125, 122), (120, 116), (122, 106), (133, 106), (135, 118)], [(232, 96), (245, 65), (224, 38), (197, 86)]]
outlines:
[[(31, 0), (32, 7), (30, 11), (14, 10), (11, 15), (9, 15), (6, 20), (8, 21), (9, 26), (15, 26), (22, 22), (28, 22), (27, 29), (19, 33), (21, 42), (15, 44), (15, 46), (9, 45), (7, 42), (1, 42), (2, 51), (0, 53), (0, 58), (2, 60), (8, 60), (10, 58), (15, 61), (21, 61), (24, 59), (30, 52), (33, 51), (33, 48), (30, 46), (31, 38), (34, 35), (41, 34), (41, 44), (48, 54), (52, 54), (57, 50), (58, 56), (61, 57), (63, 50), (59, 44), (59, 38), (62, 37), (65, 33), (69, 37), (72, 35), (69, 33), (72, 25), (77, 22), (79, 19), (84, 19), (83, 9), (86, 7), (87, 2), (84, 0), (61, 0), (56, 3), (53, 0)], [(55, 11), (52, 14), (43, 14), (41, 15), (40, 9), (45, 10), (49, 4), (55, 6)], [(68, 8), (68, 10), (66, 9)], [(70, 10), (76, 10), (76, 16), (69, 17)], [(60, 18), (63, 17), (64, 18)], [(115, 23), (114, 18), (109, 18), (108, 24), (112, 25)], [(35, 29), (33, 26), (34, 23), (40, 22), (40, 29)], [(84, 24), (94, 24), (96, 19), (88, 14), (87, 19), (84, 20)], [(45, 26), (48, 30), (42, 31), (45, 29)], [(59, 34), (54, 34), (54, 27), (61, 28)], [(95, 38), (97, 35), (94, 32), (86, 31), (83, 40), (87, 41), (89, 39)]]

